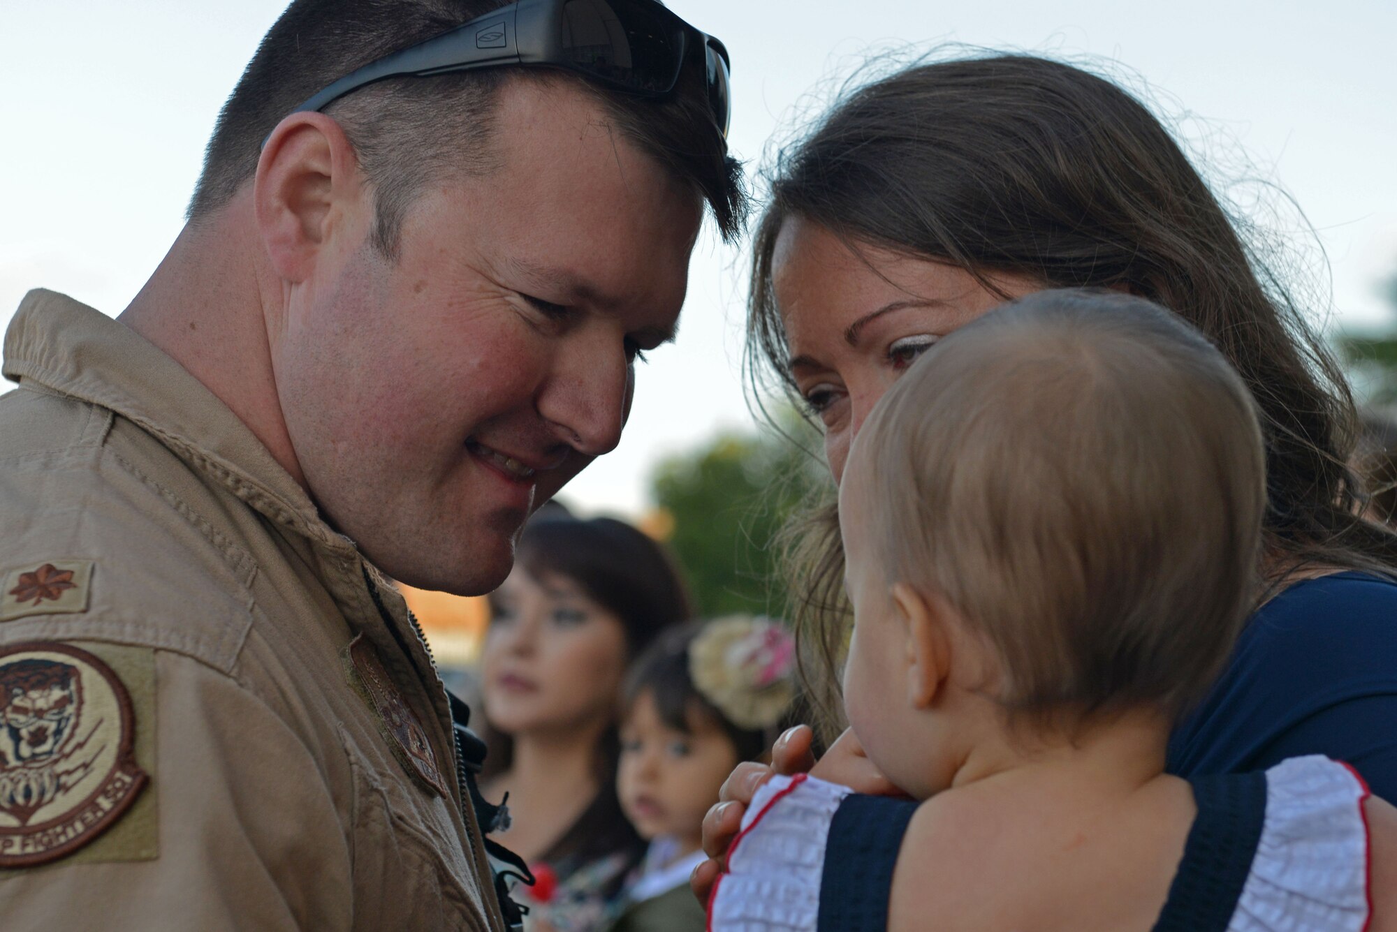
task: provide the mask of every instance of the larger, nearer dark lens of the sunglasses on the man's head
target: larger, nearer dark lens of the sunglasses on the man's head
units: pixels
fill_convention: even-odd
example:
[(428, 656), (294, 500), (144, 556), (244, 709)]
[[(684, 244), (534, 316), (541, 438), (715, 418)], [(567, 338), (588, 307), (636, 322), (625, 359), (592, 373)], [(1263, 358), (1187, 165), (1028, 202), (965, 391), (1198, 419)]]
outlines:
[(567, 0), (563, 54), (576, 68), (645, 93), (665, 93), (683, 64), (683, 25), (658, 4)]

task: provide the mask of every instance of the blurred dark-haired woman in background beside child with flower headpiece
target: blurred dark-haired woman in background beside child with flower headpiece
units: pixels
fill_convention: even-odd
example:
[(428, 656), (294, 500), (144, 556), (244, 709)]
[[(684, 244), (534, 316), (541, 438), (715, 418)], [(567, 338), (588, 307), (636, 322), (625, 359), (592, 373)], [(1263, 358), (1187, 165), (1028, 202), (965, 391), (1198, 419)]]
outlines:
[(689, 618), (664, 548), (609, 518), (536, 518), (490, 596), (483, 790), (510, 794), (502, 839), (539, 883), (515, 889), (528, 926), (602, 926), (644, 843), (616, 798), (616, 702), (630, 660)]

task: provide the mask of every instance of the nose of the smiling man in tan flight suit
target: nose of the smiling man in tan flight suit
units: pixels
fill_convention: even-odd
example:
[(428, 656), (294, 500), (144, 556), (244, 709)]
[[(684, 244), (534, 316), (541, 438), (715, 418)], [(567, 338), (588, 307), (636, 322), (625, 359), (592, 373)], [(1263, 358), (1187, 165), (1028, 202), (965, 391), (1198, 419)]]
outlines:
[(564, 444), (601, 456), (620, 442), (633, 392), (634, 367), (619, 339), (578, 340), (560, 353), (538, 399), (538, 413)]

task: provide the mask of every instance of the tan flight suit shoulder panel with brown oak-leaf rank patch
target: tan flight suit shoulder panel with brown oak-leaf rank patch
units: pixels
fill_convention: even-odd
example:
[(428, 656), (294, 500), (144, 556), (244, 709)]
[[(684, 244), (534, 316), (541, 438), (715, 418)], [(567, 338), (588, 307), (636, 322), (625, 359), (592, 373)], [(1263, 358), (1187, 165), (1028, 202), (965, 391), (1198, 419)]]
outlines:
[(116, 640), (231, 670), (256, 564), (218, 526), (229, 497), (129, 421), (42, 389), (0, 399), (0, 643)]

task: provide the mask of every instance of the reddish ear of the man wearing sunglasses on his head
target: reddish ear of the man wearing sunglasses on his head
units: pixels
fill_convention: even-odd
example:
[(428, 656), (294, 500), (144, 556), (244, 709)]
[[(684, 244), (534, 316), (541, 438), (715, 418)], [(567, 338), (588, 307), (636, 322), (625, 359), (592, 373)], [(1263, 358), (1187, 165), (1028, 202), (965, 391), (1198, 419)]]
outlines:
[(359, 160), (339, 124), (323, 113), (292, 113), (257, 160), (257, 227), (277, 275), (310, 278), (314, 260), (363, 194)]

